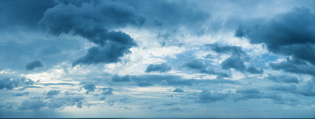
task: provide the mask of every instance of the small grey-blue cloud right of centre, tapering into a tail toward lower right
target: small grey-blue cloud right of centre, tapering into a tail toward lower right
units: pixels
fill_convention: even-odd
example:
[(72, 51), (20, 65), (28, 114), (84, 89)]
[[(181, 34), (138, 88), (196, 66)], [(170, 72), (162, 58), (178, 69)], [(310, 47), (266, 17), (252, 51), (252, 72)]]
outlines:
[[(208, 64), (208, 65), (210, 65), (210, 64)], [(217, 78), (230, 77), (230, 74), (223, 72), (223, 71), (215, 71), (213, 68), (207, 66), (206, 64), (203, 64), (203, 62), (201, 62), (198, 59), (192, 59), (188, 62), (185, 62), (182, 66), (186, 67), (188, 69), (197, 71), (199, 73), (217, 75)]]

